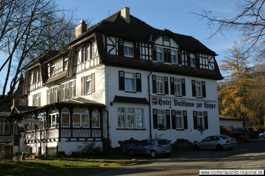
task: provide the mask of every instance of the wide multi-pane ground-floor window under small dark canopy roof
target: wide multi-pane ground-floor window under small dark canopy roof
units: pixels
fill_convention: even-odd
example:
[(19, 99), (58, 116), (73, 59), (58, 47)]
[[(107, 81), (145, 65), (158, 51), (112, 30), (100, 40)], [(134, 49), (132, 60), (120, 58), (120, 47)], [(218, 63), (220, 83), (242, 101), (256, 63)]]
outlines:
[(118, 128), (143, 128), (143, 109), (118, 108)]

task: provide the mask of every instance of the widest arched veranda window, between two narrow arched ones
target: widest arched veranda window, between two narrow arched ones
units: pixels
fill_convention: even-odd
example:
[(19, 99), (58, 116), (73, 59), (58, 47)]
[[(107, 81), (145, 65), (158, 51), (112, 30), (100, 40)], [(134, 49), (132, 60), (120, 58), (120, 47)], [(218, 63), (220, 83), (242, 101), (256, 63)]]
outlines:
[(73, 127), (89, 127), (89, 110), (87, 108), (74, 108)]

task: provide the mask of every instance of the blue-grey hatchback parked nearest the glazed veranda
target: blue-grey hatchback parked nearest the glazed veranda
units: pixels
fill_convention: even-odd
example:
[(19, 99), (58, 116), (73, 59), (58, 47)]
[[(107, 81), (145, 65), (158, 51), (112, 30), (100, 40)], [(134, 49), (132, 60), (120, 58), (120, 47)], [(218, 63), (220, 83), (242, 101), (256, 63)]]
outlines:
[(145, 139), (129, 146), (128, 151), (130, 156), (142, 154), (155, 158), (157, 155), (169, 156), (172, 153), (172, 147), (166, 139)]

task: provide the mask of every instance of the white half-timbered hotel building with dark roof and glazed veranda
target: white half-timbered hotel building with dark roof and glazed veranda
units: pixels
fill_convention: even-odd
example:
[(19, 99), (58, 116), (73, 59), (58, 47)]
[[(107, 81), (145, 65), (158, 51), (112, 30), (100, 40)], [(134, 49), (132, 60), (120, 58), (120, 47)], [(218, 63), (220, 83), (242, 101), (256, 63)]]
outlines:
[[(29, 109), (40, 131), (26, 132), (25, 148), (59, 145), (70, 153), (81, 141), (112, 147), (130, 138), (161, 136), (198, 141), (219, 134), (215, 52), (191, 36), (158, 30), (129, 8), (87, 28), (75, 28), (68, 49), (26, 67)], [(201, 132), (202, 131), (202, 132)], [(43, 150), (42, 150), (43, 153)]]

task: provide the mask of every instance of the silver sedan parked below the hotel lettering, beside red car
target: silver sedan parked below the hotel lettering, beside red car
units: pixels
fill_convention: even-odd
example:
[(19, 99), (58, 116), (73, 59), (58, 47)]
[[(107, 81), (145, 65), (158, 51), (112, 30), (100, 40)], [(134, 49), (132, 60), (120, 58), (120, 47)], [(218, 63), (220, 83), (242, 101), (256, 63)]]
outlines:
[(222, 151), (223, 149), (232, 150), (237, 146), (237, 140), (225, 135), (208, 136), (200, 142), (193, 144), (193, 149), (198, 151), (200, 149), (217, 149)]

